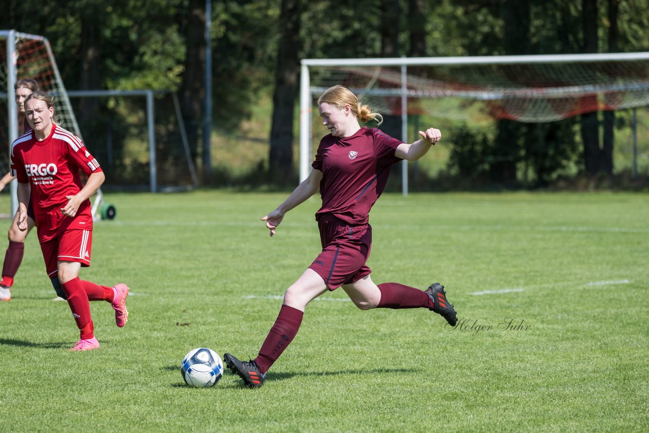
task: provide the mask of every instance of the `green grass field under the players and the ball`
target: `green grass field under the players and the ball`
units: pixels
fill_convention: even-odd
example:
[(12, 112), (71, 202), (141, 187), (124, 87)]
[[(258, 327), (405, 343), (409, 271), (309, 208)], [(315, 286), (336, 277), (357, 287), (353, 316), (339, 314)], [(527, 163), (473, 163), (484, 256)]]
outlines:
[(188, 388), (194, 347), (256, 356), (319, 252), (317, 200), (273, 238), (258, 220), (285, 196), (108, 194), (117, 218), (96, 223), (81, 277), (129, 284), (130, 317), (117, 328), (92, 303), (101, 348), (88, 353), (67, 351), (79, 334), (32, 233), (0, 303), (0, 431), (649, 430), (646, 194), (384, 195), (373, 280), (442, 282), (458, 327), (363, 312), (336, 290), (308, 306), (260, 390), (229, 371)]

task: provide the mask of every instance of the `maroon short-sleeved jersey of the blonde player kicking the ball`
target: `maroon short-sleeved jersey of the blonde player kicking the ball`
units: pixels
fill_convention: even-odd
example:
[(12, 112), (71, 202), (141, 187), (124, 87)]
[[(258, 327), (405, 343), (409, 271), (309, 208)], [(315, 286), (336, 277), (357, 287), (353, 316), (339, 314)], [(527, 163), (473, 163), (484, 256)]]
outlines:
[(351, 225), (367, 223), (369, 211), (386, 188), (402, 142), (376, 128), (362, 127), (350, 137), (324, 136), (312, 167), (323, 172), (323, 205), (315, 219), (330, 214)]

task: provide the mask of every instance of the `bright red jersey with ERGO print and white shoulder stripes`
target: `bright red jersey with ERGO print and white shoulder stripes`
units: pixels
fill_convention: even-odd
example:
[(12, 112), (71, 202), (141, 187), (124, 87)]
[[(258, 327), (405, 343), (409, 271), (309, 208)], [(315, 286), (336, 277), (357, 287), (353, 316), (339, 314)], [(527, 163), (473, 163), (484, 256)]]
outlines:
[(88, 176), (101, 171), (80, 138), (57, 125), (42, 142), (31, 131), (12, 143), (11, 174), (18, 182), (30, 185), (41, 242), (66, 230), (92, 230), (90, 200), (81, 203), (75, 217), (61, 213), (68, 202), (66, 195), (75, 195), (83, 188), (79, 169)]

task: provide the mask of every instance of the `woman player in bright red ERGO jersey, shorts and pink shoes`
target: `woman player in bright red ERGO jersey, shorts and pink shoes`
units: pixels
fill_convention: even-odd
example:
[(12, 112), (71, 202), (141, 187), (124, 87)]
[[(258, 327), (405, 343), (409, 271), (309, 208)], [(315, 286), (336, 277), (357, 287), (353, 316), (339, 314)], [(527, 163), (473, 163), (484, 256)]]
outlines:
[[(110, 288), (79, 279), (80, 267), (90, 266), (92, 250), (89, 197), (104, 182), (104, 173), (80, 138), (56, 124), (53, 96), (32, 93), (25, 112), (32, 132), (11, 147), (12, 175), (18, 178), (18, 229), (27, 230), (31, 201), (47, 275), (58, 277), (80, 330), (81, 338), (71, 350), (97, 349), (89, 301), (111, 303), (118, 327), (129, 316), (125, 284)], [(85, 185), (79, 170), (88, 175)]]

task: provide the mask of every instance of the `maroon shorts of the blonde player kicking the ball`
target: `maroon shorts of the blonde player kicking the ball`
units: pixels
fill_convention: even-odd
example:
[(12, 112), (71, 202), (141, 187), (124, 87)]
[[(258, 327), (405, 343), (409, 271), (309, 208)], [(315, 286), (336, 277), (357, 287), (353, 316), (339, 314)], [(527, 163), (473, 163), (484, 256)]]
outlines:
[(318, 229), (323, 252), (309, 268), (323, 278), (329, 290), (351, 284), (372, 272), (365, 264), (372, 249), (369, 224), (349, 225), (336, 217), (321, 217)]

